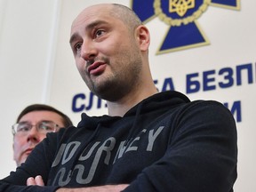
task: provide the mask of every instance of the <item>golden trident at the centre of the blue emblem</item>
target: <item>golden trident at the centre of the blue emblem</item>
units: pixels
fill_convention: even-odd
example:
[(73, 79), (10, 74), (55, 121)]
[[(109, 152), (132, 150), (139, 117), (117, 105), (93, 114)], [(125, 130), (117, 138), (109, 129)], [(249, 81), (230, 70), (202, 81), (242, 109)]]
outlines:
[(169, 12), (177, 12), (182, 17), (186, 14), (188, 9), (195, 7), (195, 0), (169, 0)]

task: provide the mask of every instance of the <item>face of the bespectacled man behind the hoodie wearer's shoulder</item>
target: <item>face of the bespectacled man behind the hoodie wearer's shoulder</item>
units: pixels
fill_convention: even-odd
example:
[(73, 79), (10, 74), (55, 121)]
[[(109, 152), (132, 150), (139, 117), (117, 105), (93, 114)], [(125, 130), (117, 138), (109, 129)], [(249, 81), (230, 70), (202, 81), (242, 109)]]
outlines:
[(59, 114), (52, 111), (31, 111), (20, 118), (19, 123), (32, 124), (33, 127), (26, 133), (16, 133), (13, 136), (13, 159), (17, 165), (24, 163), (36, 145), (46, 137), (46, 133), (38, 132), (35, 125), (40, 122), (52, 122), (60, 128), (64, 127), (61, 119)]

